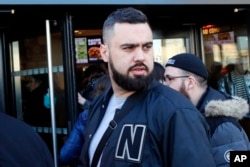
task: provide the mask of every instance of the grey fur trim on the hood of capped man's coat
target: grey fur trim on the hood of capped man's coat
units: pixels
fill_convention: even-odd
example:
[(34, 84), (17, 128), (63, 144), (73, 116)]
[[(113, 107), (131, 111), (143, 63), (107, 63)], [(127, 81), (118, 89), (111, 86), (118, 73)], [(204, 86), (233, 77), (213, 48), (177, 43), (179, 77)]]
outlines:
[(211, 100), (205, 107), (206, 117), (230, 116), (242, 119), (249, 112), (249, 106), (245, 99), (232, 97), (227, 100)]

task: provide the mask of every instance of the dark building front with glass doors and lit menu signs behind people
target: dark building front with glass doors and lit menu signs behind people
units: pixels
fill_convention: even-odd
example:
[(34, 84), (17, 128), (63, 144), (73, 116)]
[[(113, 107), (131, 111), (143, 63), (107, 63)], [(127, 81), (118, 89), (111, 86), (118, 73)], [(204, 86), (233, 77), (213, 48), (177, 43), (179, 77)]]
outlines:
[(53, 2), (0, 2), (0, 106), (24, 120), (30, 76), (46, 75), (48, 94), (55, 97), (47, 106), (50, 123), (32, 126), (55, 158), (78, 115), (78, 72), (102, 63), (88, 50), (102, 42), (103, 21), (117, 8), (133, 6), (148, 15), (155, 61), (162, 65), (174, 54), (190, 52), (200, 56), (208, 70), (214, 62), (226, 66), (237, 57), (244, 58), (249, 70), (249, 2)]

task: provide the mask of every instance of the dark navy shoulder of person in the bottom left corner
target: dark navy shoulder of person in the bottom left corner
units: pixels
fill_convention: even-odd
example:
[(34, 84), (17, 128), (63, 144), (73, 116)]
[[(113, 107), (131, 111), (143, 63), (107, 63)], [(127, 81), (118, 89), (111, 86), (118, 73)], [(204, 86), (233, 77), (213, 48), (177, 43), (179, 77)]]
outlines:
[(26, 123), (0, 112), (0, 166), (53, 167), (45, 142)]

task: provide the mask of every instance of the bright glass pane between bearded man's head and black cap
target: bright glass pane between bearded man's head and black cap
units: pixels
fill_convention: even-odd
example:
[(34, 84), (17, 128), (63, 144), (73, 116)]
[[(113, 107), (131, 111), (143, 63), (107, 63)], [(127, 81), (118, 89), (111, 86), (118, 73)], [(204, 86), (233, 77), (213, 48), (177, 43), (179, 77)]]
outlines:
[(194, 53), (199, 55), (199, 32), (194, 25), (174, 25), (153, 29), (154, 60), (165, 66), (169, 58), (179, 53)]

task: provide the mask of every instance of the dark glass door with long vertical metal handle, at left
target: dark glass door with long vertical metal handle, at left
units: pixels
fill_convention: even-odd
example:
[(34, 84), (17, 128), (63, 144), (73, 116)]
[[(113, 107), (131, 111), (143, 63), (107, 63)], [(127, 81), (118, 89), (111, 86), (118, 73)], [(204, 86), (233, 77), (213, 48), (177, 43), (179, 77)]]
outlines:
[[(54, 19), (33, 18), (16, 16), (6, 35), (13, 110), (39, 133), (57, 159), (67, 135), (62, 26)], [(23, 20), (22, 25), (15, 19)]]

